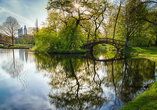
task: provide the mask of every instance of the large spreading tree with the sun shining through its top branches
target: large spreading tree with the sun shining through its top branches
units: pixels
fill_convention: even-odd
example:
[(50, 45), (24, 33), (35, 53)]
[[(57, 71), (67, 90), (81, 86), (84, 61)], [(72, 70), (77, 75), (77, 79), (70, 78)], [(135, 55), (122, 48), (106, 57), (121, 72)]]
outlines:
[[(82, 39), (83, 34), (86, 37), (85, 33), (88, 33), (88, 39), (90, 35), (95, 36), (96, 39), (107, 8), (107, 0), (49, 0), (46, 8), (49, 12), (48, 28), (50, 31), (58, 29), (61, 33), (66, 33), (63, 37), (68, 44), (65, 46), (67, 49), (79, 48), (85, 40), (85, 38)], [(63, 25), (58, 25), (61, 22)], [(94, 27), (93, 34), (91, 29), (87, 29), (88, 23)], [(60, 35), (59, 37), (62, 37)]]

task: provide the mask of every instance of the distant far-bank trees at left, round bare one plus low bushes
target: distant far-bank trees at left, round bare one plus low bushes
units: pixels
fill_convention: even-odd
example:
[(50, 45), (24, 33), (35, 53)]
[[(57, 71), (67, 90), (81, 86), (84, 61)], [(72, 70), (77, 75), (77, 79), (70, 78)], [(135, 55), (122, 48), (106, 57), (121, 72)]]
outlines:
[[(24, 35), (22, 38), (16, 38), (15, 36), (18, 34), (18, 29), (20, 29), (20, 25), (18, 24), (16, 18), (9, 16), (5, 22), (3, 22), (3, 25), (0, 26), (0, 33), (3, 33), (5, 37), (3, 40), (12, 42), (12, 45), (14, 43), (20, 43), (20, 44), (34, 44), (34, 35), (36, 28), (29, 27), (27, 29), (27, 34)], [(0, 36), (2, 39), (2, 34)]]

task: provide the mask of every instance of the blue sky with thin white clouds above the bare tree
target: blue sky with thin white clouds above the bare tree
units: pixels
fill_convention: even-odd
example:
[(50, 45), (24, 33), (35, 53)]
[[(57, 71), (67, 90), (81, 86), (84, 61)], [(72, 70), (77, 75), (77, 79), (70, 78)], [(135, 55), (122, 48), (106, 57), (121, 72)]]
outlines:
[(41, 27), (42, 21), (47, 17), (47, 2), (48, 0), (0, 0), (0, 25), (12, 16), (21, 27), (35, 27), (36, 18)]

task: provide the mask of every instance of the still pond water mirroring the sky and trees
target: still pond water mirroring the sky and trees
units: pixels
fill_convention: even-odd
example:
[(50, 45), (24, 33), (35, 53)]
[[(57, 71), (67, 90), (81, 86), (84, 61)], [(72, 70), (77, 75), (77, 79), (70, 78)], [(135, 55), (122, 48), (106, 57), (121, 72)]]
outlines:
[(0, 49), (0, 110), (118, 110), (155, 80), (147, 59)]

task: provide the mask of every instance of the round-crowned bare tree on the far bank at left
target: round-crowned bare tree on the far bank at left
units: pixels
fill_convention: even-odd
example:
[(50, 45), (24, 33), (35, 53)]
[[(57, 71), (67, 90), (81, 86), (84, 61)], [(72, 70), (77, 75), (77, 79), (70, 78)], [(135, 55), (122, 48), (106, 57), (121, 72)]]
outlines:
[(18, 24), (16, 18), (9, 16), (6, 21), (1, 26), (1, 30), (4, 34), (12, 36), (12, 45), (14, 45), (13, 38), (15, 37), (20, 25)]

